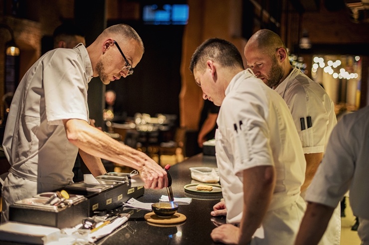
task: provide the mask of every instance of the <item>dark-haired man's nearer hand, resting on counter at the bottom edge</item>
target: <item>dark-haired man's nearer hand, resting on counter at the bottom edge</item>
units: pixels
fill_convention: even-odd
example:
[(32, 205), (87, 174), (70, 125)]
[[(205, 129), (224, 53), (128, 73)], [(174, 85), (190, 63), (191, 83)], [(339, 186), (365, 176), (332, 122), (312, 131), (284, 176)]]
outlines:
[(210, 236), (215, 243), (238, 244), (240, 229), (231, 224), (225, 224), (212, 230)]

